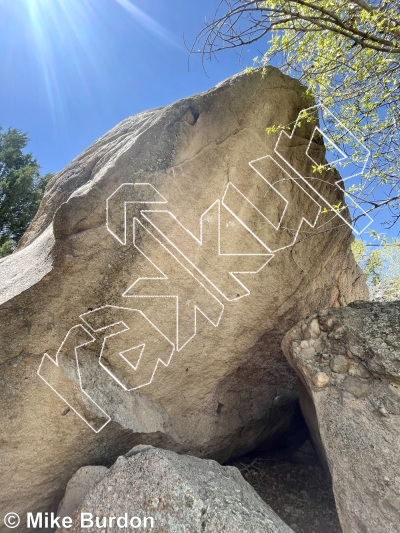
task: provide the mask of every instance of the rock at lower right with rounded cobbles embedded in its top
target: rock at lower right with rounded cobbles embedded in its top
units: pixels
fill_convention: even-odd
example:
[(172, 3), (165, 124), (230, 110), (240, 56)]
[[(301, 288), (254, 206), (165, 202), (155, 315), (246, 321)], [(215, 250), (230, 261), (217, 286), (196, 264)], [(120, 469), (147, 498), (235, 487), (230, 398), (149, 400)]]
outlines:
[(287, 333), (344, 533), (400, 524), (400, 302), (324, 309)]

